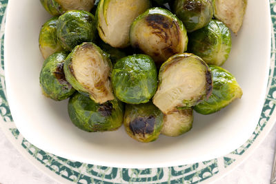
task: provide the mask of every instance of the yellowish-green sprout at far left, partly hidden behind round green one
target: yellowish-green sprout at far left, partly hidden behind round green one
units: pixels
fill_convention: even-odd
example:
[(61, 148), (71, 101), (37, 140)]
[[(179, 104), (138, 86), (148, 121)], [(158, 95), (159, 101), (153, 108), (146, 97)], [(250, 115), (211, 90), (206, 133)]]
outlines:
[(57, 41), (57, 19), (52, 17), (43, 24), (39, 34), (39, 49), (44, 59), (50, 57), (55, 52), (63, 50)]

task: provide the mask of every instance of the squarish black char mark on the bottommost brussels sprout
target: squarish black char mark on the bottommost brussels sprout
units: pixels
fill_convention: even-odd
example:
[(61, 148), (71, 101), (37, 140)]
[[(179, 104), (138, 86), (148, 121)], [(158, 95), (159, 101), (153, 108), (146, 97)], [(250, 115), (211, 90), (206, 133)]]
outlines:
[(148, 118), (138, 117), (130, 122), (130, 130), (132, 134), (151, 134), (155, 130), (155, 117), (149, 116)]

